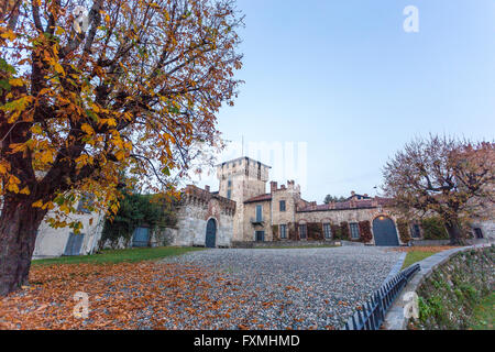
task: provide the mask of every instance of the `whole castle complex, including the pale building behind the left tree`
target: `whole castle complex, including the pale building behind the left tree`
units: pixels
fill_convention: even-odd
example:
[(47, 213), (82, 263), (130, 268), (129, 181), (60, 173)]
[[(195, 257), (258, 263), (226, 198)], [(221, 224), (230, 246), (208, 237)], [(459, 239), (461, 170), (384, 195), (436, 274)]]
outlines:
[[(130, 243), (119, 241), (118, 248), (167, 244), (234, 248), (274, 242), (298, 245), (336, 240), (402, 245), (405, 244), (400, 235), (404, 231), (415, 243), (425, 238), (419, 221), (406, 228), (398, 223), (387, 198), (351, 193), (345, 201), (317, 205), (301, 198), (300, 187), (294, 180), (280, 186), (271, 182), (266, 193), (270, 168), (249, 157), (218, 165), (219, 190), (187, 186), (176, 209), (175, 228), (160, 232), (140, 227)], [(106, 243), (100, 243), (105, 215), (91, 213), (81, 201), (78, 211), (72, 219), (84, 223), (81, 234), (74, 234), (70, 228), (53, 229), (46, 221), (41, 224), (34, 258), (91, 254), (100, 246), (107, 248)], [(96, 221), (91, 222), (92, 218)], [(475, 240), (495, 239), (493, 216), (488, 221), (473, 219), (471, 227)]]

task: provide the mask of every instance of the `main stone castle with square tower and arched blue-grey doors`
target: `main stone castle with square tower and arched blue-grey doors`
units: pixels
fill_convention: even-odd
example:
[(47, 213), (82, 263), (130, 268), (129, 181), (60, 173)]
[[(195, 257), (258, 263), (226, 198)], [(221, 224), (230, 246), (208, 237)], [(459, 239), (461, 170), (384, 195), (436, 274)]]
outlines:
[[(217, 166), (219, 190), (185, 188), (175, 245), (240, 246), (252, 242), (332, 241), (400, 245), (391, 200), (352, 193), (345, 201), (317, 205), (301, 198), (294, 180), (270, 183), (271, 167), (250, 157)], [(410, 224), (414, 239), (419, 224)]]

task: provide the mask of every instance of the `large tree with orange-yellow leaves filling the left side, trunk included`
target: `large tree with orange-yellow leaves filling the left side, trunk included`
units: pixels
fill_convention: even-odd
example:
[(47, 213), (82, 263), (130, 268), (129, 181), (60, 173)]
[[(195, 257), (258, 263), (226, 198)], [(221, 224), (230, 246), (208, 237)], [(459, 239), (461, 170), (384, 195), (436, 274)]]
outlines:
[(0, 295), (26, 283), (48, 210), (78, 231), (81, 194), (117, 212), (119, 174), (173, 191), (190, 150), (219, 145), (241, 25), (233, 0), (1, 2)]

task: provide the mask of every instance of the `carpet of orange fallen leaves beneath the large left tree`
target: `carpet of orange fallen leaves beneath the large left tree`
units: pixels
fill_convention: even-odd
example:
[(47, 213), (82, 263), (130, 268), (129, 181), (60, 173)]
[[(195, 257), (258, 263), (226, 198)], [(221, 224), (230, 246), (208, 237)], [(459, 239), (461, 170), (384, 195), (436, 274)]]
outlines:
[[(208, 296), (212, 286), (235, 289), (218, 274), (155, 263), (34, 266), (30, 283), (0, 300), (0, 329), (160, 329), (164, 321), (197, 327), (196, 315), (207, 324), (221, 305)], [(77, 292), (89, 296), (88, 319), (73, 315)]]

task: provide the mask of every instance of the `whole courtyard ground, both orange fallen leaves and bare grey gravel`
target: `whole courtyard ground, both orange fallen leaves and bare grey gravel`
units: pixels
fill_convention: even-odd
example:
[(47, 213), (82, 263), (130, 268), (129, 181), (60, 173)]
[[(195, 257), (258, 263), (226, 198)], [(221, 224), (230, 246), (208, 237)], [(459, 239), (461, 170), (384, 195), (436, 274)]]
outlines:
[[(29, 286), (0, 298), (0, 329), (337, 329), (398, 257), (367, 248), (211, 250), (34, 265)], [(76, 293), (88, 295), (87, 319), (74, 315)]]

